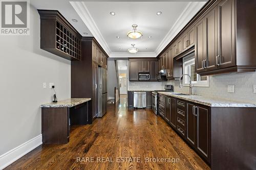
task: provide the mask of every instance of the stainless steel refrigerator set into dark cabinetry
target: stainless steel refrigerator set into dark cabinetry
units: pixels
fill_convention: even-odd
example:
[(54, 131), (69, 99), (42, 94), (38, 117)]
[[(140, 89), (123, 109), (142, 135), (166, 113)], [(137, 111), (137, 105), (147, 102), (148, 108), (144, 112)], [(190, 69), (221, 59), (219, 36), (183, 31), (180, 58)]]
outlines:
[(106, 113), (108, 105), (108, 89), (106, 86), (107, 70), (105, 68), (98, 68), (98, 117), (102, 117)]

